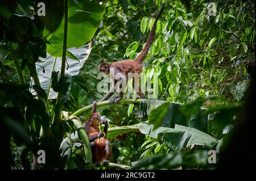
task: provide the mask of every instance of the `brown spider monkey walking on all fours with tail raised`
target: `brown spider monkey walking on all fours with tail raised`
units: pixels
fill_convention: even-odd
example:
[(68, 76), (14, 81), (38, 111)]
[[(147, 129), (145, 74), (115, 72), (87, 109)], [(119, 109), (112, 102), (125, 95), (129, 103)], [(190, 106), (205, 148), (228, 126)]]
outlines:
[[(107, 100), (110, 96), (112, 96), (112, 94), (114, 94), (115, 87), (120, 87), (121, 80), (122, 81), (126, 80), (126, 84), (127, 84), (128, 73), (140, 74), (142, 72), (142, 61), (144, 60), (144, 58), (146, 58), (148, 50), (150, 49), (150, 45), (152, 44), (152, 41), (154, 39), (156, 23), (163, 12), (163, 8), (164, 8), (164, 3), (162, 3), (161, 9), (155, 18), (155, 22), (151, 28), (150, 34), (147, 37), (146, 45), (144, 46), (139, 56), (135, 58), (135, 60), (121, 60), (117, 62), (112, 62), (110, 64), (102, 63), (98, 66), (98, 70), (100, 72), (110, 74), (110, 79), (112, 81), (112, 87), (110, 88), (109, 92), (100, 101)], [(114, 69), (113, 73), (110, 71), (111, 68)], [(137, 90), (137, 94), (142, 99), (145, 98), (145, 95), (141, 91), (141, 87), (139, 87), (138, 82), (135, 82), (134, 78), (133, 78), (133, 88)], [(121, 100), (122, 97), (123, 97), (123, 92), (120, 91), (117, 97), (111, 98), (109, 100), (109, 103), (118, 104), (119, 100)]]

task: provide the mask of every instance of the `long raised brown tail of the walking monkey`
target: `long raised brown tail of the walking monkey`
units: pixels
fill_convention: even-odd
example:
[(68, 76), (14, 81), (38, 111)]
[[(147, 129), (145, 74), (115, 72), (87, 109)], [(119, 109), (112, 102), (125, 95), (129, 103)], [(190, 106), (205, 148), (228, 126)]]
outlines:
[(150, 34), (147, 37), (146, 45), (144, 46), (144, 48), (143, 48), (142, 52), (139, 54), (139, 56), (135, 59), (135, 61), (143, 61), (143, 59), (146, 58), (148, 50), (150, 49), (150, 45), (152, 44), (152, 41), (154, 40), (155, 30), (156, 30), (156, 23), (158, 22), (158, 19), (159, 19), (160, 15), (163, 12), (164, 5), (165, 5), (165, 3), (162, 3), (161, 9), (160, 9), (158, 15), (155, 18), (155, 22), (154, 22), (154, 24), (151, 28)]

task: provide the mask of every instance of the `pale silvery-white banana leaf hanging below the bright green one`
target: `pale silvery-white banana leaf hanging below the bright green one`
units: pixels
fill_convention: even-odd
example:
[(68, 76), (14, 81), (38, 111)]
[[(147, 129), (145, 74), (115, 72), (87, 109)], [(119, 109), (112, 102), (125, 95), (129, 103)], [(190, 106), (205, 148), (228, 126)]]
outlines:
[[(91, 43), (88, 43), (80, 48), (69, 48), (68, 51), (71, 52), (78, 60), (73, 60), (67, 57), (65, 64), (65, 76), (68, 77), (68, 81), (71, 81), (72, 77), (79, 74), (80, 69), (84, 66), (85, 60), (90, 54), (92, 49)], [(57, 97), (57, 92), (53, 91), (51, 88), (51, 75), (52, 71), (60, 71), (61, 68), (61, 58), (53, 57), (48, 54), (47, 58), (41, 58), (41, 62), (36, 63), (36, 72), (38, 73), (38, 78), (40, 85), (48, 95), (48, 99), (55, 99)], [(32, 82), (34, 84), (34, 82)], [(31, 91), (32, 93), (35, 93)]]

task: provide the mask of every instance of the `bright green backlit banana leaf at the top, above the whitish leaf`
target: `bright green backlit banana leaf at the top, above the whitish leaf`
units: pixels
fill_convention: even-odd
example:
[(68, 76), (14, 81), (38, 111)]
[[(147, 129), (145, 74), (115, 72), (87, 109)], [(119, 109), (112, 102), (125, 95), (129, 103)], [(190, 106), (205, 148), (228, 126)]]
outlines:
[[(68, 1), (68, 37), (67, 48), (81, 47), (90, 41), (100, 25), (105, 9), (105, 1)], [(53, 33), (44, 31), (49, 44), (47, 52), (55, 57), (62, 56), (64, 17)], [(68, 56), (68, 54), (67, 54)]]

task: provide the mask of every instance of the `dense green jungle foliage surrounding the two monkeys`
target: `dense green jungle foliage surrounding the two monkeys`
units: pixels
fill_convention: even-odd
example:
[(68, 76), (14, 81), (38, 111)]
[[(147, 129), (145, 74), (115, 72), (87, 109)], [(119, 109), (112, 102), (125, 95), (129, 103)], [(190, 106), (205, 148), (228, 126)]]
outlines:
[[(98, 65), (136, 58), (163, 2), (143, 62), (155, 98), (135, 99), (133, 92), (119, 104), (98, 103), (109, 120), (112, 159), (96, 167), (82, 123), (104, 96), (97, 90)], [(254, 68), (254, 1), (1, 1), (0, 145), (6, 156), (0, 165), (250, 167)], [(38, 150), (45, 163), (37, 161)]]

